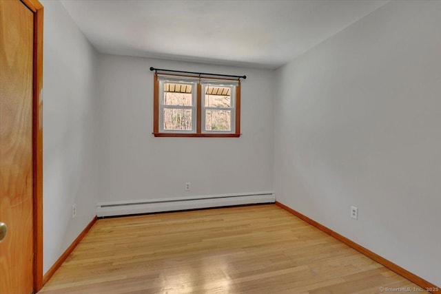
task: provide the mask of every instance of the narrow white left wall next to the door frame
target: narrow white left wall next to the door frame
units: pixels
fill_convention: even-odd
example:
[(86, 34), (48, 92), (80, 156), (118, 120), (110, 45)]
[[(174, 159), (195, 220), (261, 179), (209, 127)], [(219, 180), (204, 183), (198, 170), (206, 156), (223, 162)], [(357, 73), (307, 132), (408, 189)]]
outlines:
[[(44, 6), (43, 272), (95, 216), (96, 52), (59, 1)], [(77, 215), (71, 219), (71, 206)]]

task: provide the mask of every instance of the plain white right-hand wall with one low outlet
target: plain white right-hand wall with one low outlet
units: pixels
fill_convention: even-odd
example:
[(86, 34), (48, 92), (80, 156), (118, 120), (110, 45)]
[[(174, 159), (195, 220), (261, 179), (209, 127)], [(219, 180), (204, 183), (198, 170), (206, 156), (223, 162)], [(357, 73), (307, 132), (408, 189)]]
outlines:
[(437, 285), (440, 28), (391, 1), (277, 70), (274, 163), (278, 201)]

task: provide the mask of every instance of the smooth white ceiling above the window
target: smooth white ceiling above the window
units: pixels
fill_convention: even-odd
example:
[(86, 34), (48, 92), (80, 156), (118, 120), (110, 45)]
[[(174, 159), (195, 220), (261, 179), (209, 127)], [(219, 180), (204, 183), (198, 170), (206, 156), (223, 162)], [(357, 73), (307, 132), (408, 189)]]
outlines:
[(62, 0), (96, 50), (276, 68), (388, 1)]

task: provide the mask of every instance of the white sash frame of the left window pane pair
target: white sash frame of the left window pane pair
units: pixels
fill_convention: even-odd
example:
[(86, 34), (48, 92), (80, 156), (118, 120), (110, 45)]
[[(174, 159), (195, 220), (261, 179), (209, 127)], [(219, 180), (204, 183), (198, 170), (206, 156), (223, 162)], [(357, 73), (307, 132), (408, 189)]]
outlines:
[[(192, 106), (183, 106), (183, 105), (165, 105), (164, 104), (164, 84), (165, 83), (173, 83), (173, 84), (184, 84), (184, 85), (192, 85)], [(174, 133), (174, 134), (194, 134), (196, 133), (196, 92), (197, 92), (197, 83), (194, 81), (159, 81), (159, 130), (161, 133)], [(192, 110), (192, 129), (164, 129), (164, 109), (191, 109)]]

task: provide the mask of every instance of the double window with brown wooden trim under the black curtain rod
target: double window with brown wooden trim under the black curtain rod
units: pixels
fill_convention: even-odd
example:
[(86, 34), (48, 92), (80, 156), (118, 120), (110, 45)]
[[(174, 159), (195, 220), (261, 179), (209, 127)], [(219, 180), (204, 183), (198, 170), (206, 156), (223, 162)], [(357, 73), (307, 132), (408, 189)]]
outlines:
[(240, 136), (240, 81), (154, 75), (154, 136)]

